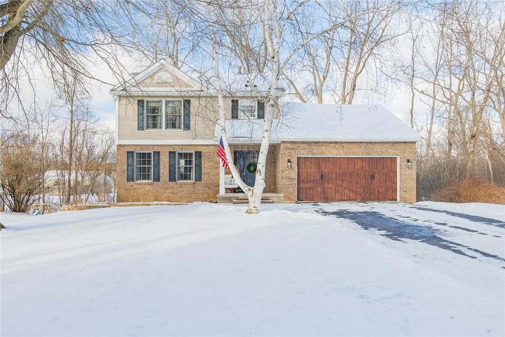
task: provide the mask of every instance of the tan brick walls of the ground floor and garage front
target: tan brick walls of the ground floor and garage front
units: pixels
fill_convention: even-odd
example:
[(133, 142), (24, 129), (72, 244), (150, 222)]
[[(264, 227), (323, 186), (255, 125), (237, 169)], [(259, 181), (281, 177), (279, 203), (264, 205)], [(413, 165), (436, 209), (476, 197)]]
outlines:
[[(233, 151), (259, 150), (259, 145), (232, 145)], [(160, 151), (159, 182), (126, 181), (127, 151)], [(201, 181), (168, 181), (169, 151), (201, 151)], [(415, 142), (281, 142), (270, 145), (264, 192), (284, 194), (285, 202), (296, 201), (297, 156), (399, 156), (399, 201), (416, 202)], [(291, 160), (291, 168), (287, 160)], [(407, 168), (407, 159), (413, 162)], [(118, 202), (216, 202), (219, 194), (219, 159), (216, 146), (131, 146), (117, 147)], [(225, 173), (229, 173), (228, 171)]]

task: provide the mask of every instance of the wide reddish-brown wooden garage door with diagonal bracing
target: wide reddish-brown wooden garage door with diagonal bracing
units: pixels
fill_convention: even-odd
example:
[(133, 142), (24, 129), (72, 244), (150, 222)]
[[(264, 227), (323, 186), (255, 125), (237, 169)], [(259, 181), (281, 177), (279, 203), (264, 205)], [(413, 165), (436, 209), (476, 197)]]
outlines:
[(396, 158), (298, 157), (299, 201), (396, 200)]

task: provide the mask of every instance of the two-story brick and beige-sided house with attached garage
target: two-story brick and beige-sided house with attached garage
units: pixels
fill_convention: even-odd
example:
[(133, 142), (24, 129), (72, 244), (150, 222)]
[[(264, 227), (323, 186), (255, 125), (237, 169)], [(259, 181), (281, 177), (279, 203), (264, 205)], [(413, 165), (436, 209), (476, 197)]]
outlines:
[[(216, 92), (161, 60), (115, 86), (118, 202), (224, 197)], [(225, 98), (233, 162), (252, 185), (264, 102)], [(281, 105), (264, 192), (277, 200), (416, 201), (417, 132), (377, 105)]]

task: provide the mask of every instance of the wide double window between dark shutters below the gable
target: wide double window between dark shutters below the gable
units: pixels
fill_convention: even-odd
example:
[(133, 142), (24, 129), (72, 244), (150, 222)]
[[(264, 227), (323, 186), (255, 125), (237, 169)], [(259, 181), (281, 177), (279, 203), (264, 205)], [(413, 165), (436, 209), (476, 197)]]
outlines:
[(138, 100), (138, 130), (189, 130), (189, 100)]

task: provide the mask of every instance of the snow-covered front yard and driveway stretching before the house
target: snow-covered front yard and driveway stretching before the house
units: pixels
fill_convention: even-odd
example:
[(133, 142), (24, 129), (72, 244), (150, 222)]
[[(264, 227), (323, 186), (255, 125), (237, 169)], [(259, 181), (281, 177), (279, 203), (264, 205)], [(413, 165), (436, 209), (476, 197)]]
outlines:
[(505, 206), (262, 209), (0, 213), (1, 335), (505, 334)]

